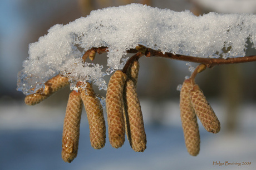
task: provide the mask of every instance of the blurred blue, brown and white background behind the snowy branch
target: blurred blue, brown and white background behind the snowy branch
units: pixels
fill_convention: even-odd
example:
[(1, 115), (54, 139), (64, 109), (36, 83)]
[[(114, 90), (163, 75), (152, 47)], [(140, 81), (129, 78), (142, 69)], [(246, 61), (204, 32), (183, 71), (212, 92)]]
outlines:
[[(213, 3), (214, 2), (214, 3)], [(223, 3), (226, 2), (226, 3)], [(243, 2), (243, 3), (241, 3)], [(200, 127), (201, 151), (186, 151), (179, 117), (179, 91), (186, 62), (164, 58), (141, 58), (137, 92), (147, 134), (147, 149), (135, 153), (125, 142), (114, 149), (97, 151), (90, 146), (85, 111), (82, 113), (77, 158), (61, 158), (62, 126), (69, 88), (62, 89), (37, 106), (26, 106), (16, 91), (17, 73), (28, 57), (29, 43), (47, 34), (55, 24), (86, 17), (94, 9), (143, 3), (174, 11), (188, 9), (196, 15), (256, 13), (255, 1), (239, 0), (3, 0), (0, 2), (0, 169), (215, 169), (213, 162), (252, 162), (256, 168), (256, 63), (232, 64), (206, 69), (196, 77), (221, 123), (218, 134)], [(242, 4), (242, 5), (241, 5)], [(247, 56), (256, 50), (248, 45)], [(104, 55), (104, 54), (102, 54)], [(100, 57), (99, 57), (100, 58)], [(96, 62), (99, 61), (96, 56)], [(193, 64), (193, 66), (196, 66)], [(102, 96), (105, 92), (97, 91)], [(106, 114), (106, 112), (105, 112)]]

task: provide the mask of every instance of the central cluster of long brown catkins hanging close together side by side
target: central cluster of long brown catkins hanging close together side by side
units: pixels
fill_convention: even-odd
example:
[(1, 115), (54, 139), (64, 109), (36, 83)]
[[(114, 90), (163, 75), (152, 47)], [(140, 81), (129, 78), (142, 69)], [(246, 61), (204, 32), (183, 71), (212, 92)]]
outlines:
[(109, 141), (112, 147), (124, 144), (125, 133), (136, 152), (146, 149), (146, 133), (136, 92), (139, 62), (135, 60), (126, 73), (116, 71), (110, 78), (106, 94)]

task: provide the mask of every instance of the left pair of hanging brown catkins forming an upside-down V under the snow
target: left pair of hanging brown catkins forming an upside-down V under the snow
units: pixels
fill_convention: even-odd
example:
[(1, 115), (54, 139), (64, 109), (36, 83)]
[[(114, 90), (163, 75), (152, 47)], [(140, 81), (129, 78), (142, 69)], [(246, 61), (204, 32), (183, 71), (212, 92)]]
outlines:
[(87, 113), (91, 146), (95, 149), (105, 146), (106, 127), (100, 99), (93, 91), (91, 83), (87, 82), (81, 86), (85, 88), (71, 92), (77, 94), (75, 102), (71, 94), (68, 98), (62, 134), (62, 158), (65, 162), (71, 162), (77, 155), (82, 103)]

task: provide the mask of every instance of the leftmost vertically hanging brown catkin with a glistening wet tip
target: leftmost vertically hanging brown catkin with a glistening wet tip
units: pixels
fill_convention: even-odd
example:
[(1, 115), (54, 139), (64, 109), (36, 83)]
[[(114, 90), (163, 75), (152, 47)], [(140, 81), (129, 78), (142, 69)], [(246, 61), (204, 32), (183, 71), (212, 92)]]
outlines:
[(80, 92), (72, 91), (68, 98), (62, 134), (62, 159), (72, 162), (77, 156), (82, 99)]

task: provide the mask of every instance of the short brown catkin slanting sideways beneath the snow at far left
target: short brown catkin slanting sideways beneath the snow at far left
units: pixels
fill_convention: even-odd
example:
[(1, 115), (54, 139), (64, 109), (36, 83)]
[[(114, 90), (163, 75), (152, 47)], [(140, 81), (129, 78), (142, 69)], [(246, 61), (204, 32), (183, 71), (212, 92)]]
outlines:
[(35, 94), (29, 94), (25, 98), (27, 105), (35, 105), (42, 102), (49, 97), (52, 93), (57, 92), (59, 89), (68, 86), (68, 78), (57, 75), (45, 83), (45, 88), (38, 89)]

